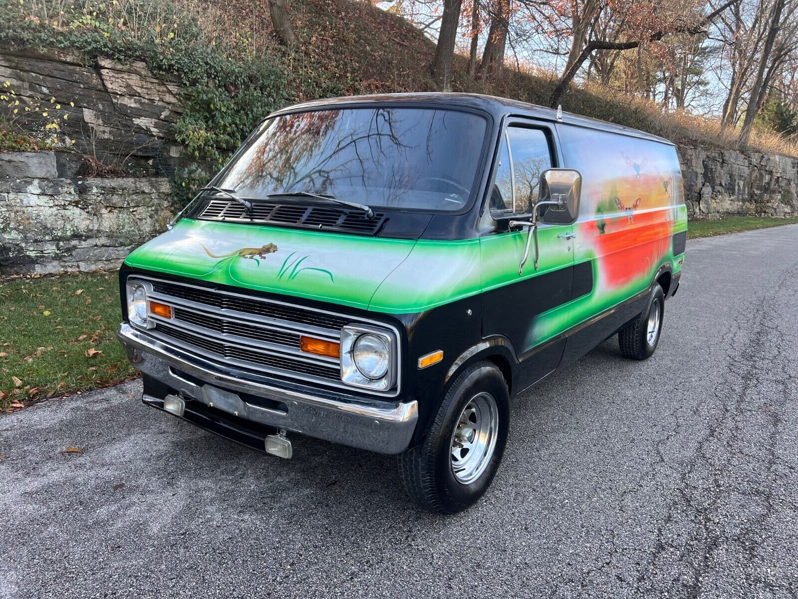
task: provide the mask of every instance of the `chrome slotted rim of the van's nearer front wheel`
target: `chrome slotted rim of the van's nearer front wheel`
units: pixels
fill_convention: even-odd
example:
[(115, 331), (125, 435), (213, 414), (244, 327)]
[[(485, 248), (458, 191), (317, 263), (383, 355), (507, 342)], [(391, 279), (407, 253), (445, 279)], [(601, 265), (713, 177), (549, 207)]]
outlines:
[(496, 448), (499, 431), (499, 409), (489, 393), (472, 397), (457, 418), (450, 455), (455, 478), (468, 485), (480, 478)]

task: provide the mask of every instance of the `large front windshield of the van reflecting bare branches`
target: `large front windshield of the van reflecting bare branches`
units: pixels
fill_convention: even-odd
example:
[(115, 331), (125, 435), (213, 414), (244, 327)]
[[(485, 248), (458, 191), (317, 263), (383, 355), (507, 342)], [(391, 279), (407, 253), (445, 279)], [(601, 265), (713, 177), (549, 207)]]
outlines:
[(307, 192), (372, 208), (460, 210), (486, 128), (484, 117), (446, 109), (287, 114), (264, 123), (216, 185), (245, 198)]

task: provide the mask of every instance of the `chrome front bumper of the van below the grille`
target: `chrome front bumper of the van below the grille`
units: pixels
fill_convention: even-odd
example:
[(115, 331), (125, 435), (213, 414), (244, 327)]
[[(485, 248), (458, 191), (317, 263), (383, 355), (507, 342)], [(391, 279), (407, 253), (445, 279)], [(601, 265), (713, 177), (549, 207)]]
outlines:
[(341, 393), (325, 397), (293, 391), (275, 387), (266, 377), (243, 375), (234, 368), (189, 355), (128, 324), (119, 327), (117, 336), (133, 366), (188, 399), (210, 405), (202, 383), (263, 398), (272, 407), (247, 401), (238, 405), (235, 415), (251, 422), (380, 454), (404, 451), (416, 428), (416, 401), (354, 399)]

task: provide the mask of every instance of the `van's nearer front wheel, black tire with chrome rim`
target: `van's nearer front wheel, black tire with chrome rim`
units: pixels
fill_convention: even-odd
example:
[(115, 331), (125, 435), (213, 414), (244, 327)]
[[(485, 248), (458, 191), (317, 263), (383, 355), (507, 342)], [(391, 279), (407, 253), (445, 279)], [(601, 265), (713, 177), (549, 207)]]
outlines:
[(455, 514), (488, 490), (507, 445), (510, 395), (490, 362), (467, 367), (452, 383), (429, 432), (400, 456), (401, 479), (416, 502)]

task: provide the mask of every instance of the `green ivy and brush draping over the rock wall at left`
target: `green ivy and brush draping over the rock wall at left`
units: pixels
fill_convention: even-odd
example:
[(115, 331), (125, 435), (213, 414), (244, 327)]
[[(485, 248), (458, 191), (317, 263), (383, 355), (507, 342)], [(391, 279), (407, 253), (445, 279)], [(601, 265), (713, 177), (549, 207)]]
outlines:
[[(170, 0), (0, 2), (0, 44), (144, 61), (182, 85), (176, 141), (212, 165), (226, 161), (263, 117), (292, 99), (286, 69), (274, 56), (224, 53)], [(196, 182), (196, 173), (184, 175), (180, 180), (178, 173), (177, 188)]]

